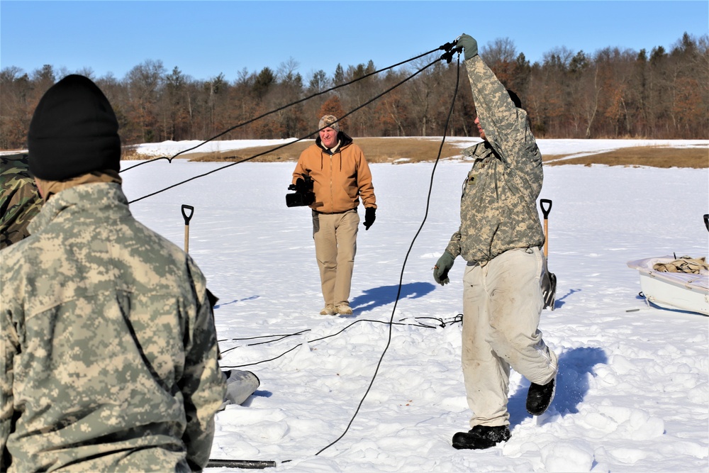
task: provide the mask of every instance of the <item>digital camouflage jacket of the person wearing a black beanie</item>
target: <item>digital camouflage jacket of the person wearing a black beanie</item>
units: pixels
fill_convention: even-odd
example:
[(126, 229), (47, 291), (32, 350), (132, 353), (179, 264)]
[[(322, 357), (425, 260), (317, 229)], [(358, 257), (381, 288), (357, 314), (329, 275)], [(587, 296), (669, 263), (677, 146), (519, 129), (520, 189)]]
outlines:
[(191, 257), (119, 184), (61, 191), (30, 230), (0, 252), (0, 471), (205, 467), (225, 381)]

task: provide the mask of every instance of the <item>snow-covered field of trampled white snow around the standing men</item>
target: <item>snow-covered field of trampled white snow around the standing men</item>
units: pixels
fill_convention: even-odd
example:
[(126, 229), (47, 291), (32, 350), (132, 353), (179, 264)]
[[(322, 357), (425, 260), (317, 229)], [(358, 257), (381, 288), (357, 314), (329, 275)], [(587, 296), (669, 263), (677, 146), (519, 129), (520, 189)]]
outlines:
[[(194, 144), (162, 143), (155, 154)], [(540, 140), (547, 154), (657, 144), (709, 147)], [(135, 200), (220, 166), (161, 160), (121, 175)], [(360, 228), (349, 317), (318, 315), (310, 213), (285, 205), (293, 162), (245, 162), (131, 204), (180, 246), (181, 205), (194, 206), (189, 252), (220, 298), (222, 365), (261, 380), (243, 406), (218, 413), (213, 459), (271, 460), (271, 471), (289, 472), (709, 470), (709, 318), (648, 307), (637, 271), (626, 266), (708, 256), (708, 169), (545, 169), (540, 197), (553, 201), (549, 269), (558, 286), (540, 328), (559, 355), (557, 396), (535, 422), (524, 406), (529, 382), (513, 373), (512, 438), (484, 451), (451, 447), (470, 416), (457, 321), (464, 262), (443, 287), (432, 266), (459, 226), (469, 166), (437, 165), (427, 216), (432, 163), (372, 165), (379, 209), (372, 228)]]

